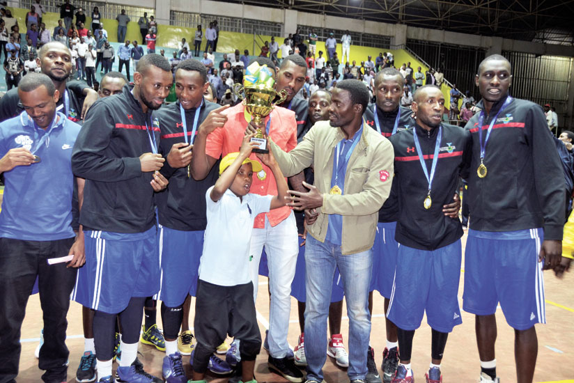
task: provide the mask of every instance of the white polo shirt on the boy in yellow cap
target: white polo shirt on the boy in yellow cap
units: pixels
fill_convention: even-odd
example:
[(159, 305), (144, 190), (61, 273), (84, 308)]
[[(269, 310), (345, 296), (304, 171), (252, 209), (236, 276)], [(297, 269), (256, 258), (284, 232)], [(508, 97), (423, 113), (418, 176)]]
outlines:
[(257, 214), (269, 212), (273, 196), (247, 194), (242, 200), (227, 189), (213, 202), (210, 187), (205, 193), (208, 225), (199, 261), (199, 279), (218, 286), (251, 282), (249, 243)]

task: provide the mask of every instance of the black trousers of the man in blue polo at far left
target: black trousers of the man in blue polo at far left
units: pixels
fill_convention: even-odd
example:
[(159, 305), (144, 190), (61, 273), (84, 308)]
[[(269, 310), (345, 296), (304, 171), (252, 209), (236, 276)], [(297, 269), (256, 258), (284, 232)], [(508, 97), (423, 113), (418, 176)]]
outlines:
[(20, 364), (20, 329), (36, 276), (44, 319), (44, 345), (38, 367), (44, 382), (67, 380), (65, 331), (77, 269), (48, 258), (68, 255), (74, 238), (24, 241), (0, 238), (0, 383), (15, 382)]

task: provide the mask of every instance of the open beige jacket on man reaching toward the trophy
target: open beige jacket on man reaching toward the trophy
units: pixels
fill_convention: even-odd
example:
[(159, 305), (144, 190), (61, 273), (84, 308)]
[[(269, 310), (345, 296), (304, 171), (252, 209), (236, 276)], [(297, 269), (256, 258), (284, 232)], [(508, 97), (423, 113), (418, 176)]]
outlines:
[(290, 177), (313, 165), (315, 186), (323, 194), (317, 221), (309, 234), (325, 242), (329, 214), (343, 215), (341, 253), (359, 253), (373, 247), (378, 211), (391, 192), (394, 150), (385, 137), (364, 124), (345, 175), (343, 195), (329, 194), (334, 148), (345, 138), (339, 127), (320, 121), (311, 127), (297, 147), (285, 153), (270, 140), (270, 147), (284, 175)]

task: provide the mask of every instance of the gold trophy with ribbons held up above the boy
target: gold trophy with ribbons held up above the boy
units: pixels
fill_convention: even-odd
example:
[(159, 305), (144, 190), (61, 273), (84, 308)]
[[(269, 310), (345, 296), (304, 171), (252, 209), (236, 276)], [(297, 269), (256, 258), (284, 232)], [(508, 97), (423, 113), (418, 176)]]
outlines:
[[(267, 68), (267, 65), (259, 66), (258, 63), (252, 63), (247, 68), (246, 75), (243, 80), (243, 85), (235, 84), (233, 86), (233, 93), (238, 98), (243, 98), (245, 111), (251, 116), (257, 126), (257, 132), (254, 137), (251, 137), (251, 142), (259, 144), (257, 148), (253, 149), (254, 153), (269, 153), (267, 150), (267, 139), (263, 136), (263, 120), (273, 110), (273, 106), (281, 104), (287, 98), (287, 92), (281, 91), (277, 93), (274, 89), (275, 80)], [(241, 93), (245, 93), (245, 98)], [(278, 100), (275, 100), (279, 97)]]

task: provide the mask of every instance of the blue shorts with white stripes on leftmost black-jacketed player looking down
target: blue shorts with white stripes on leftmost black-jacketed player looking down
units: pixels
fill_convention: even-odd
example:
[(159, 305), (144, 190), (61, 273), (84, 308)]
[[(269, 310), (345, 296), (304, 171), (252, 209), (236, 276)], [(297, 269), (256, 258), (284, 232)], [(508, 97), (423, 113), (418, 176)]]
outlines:
[(132, 297), (160, 290), (155, 226), (143, 233), (84, 231), (86, 264), (78, 270), (72, 299), (83, 306), (121, 313)]

